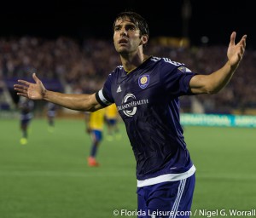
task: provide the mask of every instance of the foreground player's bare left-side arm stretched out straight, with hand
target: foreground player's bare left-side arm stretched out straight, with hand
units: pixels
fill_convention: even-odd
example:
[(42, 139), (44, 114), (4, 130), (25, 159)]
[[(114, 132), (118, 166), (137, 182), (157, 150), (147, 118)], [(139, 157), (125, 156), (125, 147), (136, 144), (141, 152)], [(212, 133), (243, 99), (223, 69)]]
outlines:
[(72, 110), (94, 112), (102, 106), (96, 100), (96, 95), (72, 95), (53, 92), (45, 89), (44, 84), (36, 76), (32, 74), (35, 83), (26, 80), (18, 80), (19, 84), (15, 84), (17, 95), (24, 96), (32, 100), (47, 100), (59, 106), (64, 106)]

